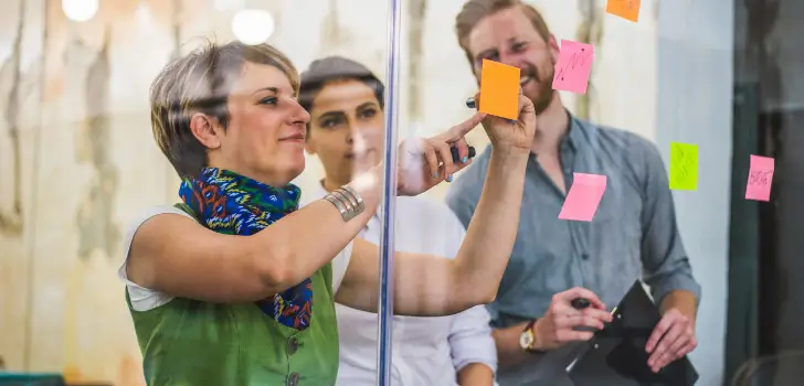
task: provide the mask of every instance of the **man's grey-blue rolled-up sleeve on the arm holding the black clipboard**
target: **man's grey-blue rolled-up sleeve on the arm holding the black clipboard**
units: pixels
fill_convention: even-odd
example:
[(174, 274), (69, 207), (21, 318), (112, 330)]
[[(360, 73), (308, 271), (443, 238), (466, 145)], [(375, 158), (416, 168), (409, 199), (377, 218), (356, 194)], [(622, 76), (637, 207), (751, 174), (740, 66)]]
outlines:
[(700, 285), (692, 277), (692, 268), (678, 233), (667, 171), (653, 143), (646, 144), (644, 154), (642, 260), (645, 282), (650, 287), (657, 304), (675, 290), (690, 291), (700, 302)]

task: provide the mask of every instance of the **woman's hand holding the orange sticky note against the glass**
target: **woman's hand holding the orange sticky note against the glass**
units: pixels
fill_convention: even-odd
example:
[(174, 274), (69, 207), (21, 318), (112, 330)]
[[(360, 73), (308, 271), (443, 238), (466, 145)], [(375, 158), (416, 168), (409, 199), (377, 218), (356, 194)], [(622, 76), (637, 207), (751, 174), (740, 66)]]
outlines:
[[(480, 106), (480, 94), (475, 95)], [(491, 141), (494, 150), (530, 152), (536, 135), (536, 109), (530, 98), (522, 95), (519, 88), (519, 117), (516, 121), (488, 116), (483, 120), (483, 128)]]

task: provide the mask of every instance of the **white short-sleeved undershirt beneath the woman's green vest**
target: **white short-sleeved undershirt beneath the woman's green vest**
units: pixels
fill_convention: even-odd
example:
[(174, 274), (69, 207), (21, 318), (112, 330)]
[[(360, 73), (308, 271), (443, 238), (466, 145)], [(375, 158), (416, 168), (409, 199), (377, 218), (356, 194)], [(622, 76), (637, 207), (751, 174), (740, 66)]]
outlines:
[[(193, 218), (189, 214), (187, 214), (184, 211), (179, 210), (173, 206), (154, 206), (149, 207), (145, 212), (142, 212), (141, 215), (139, 215), (137, 218), (135, 218), (134, 222), (128, 227), (128, 230), (126, 232), (126, 239), (123, 244), (123, 264), (120, 265), (120, 268), (117, 270), (117, 276), (123, 280), (123, 282), (126, 283), (126, 289), (128, 290), (128, 297), (131, 301), (131, 308), (135, 311), (148, 311), (156, 309), (159, 305), (167, 304), (171, 300), (173, 300), (173, 297), (160, 292), (157, 290), (148, 289), (145, 287), (141, 287), (137, 285), (136, 282), (128, 279), (128, 275), (126, 272), (126, 264), (128, 262), (128, 251), (131, 249), (131, 242), (134, 240), (134, 235), (137, 233), (137, 229), (145, 224), (148, 219), (150, 219), (154, 216), (158, 215), (179, 215), (179, 216), (186, 216), (189, 218)], [(194, 218), (193, 218), (194, 221)], [(332, 259), (332, 293), (338, 292), (338, 288), (340, 288), (340, 282), (343, 281), (343, 276), (346, 275), (346, 269), (349, 266), (349, 260), (351, 259), (351, 249), (352, 249), (352, 243), (350, 242), (343, 250), (341, 250), (338, 256)]]

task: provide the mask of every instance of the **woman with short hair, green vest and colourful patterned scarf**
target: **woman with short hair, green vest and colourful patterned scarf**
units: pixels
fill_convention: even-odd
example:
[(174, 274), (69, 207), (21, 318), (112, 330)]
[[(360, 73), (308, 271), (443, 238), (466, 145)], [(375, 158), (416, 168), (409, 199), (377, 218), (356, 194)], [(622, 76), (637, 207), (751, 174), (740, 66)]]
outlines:
[[(267, 44), (209, 44), (169, 64), (151, 88), (157, 144), (183, 179), (181, 203), (146, 211), (127, 236), (119, 276), (149, 385), (331, 385), (334, 312), (375, 312), (379, 254), (355, 239), (372, 216), (382, 165), (298, 208), (309, 115), (293, 64)], [(410, 141), (400, 195), (467, 162), (483, 122), (494, 154), (455, 259), (398, 253), (394, 312), (444, 315), (494, 299), (512, 249), (536, 118), (520, 95), (515, 124), (475, 115)], [(345, 261), (334, 272), (330, 261)], [(414, 278), (414, 279), (410, 279)]]

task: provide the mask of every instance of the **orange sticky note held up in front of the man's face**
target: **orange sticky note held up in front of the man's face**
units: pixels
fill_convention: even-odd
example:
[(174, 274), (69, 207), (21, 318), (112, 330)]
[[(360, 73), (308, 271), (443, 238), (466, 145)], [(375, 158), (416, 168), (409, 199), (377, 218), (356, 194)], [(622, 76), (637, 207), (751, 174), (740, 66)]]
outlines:
[(519, 117), (519, 67), (483, 60), (478, 110), (508, 119)]

